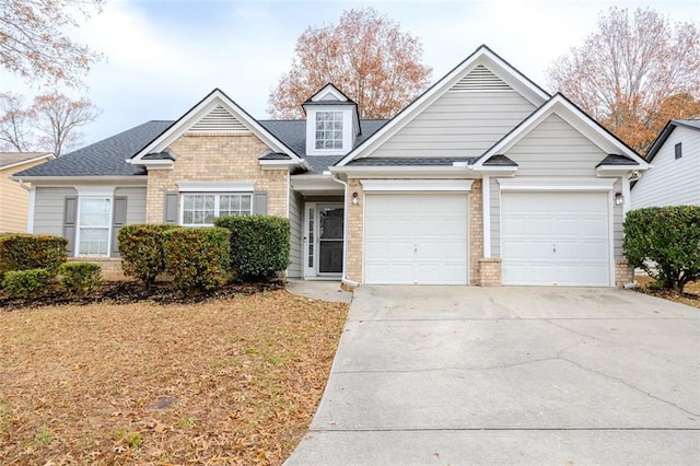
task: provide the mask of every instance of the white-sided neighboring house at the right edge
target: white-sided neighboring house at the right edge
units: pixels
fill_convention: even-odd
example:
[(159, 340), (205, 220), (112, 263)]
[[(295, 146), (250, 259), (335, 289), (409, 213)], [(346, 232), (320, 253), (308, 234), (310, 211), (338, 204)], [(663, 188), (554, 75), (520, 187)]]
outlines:
[(653, 170), (632, 185), (632, 209), (700, 206), (700, 119), (672, 119), (646, 153)]

